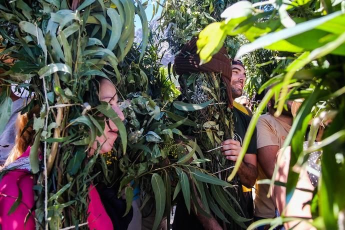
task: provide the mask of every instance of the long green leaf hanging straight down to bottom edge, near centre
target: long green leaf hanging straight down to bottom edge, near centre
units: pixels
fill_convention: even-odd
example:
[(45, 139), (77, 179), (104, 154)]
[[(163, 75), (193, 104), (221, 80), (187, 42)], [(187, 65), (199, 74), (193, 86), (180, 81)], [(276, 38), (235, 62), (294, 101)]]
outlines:
[(157, 229), (161, 218), (164, 214), (165, 208), (165, 187), (164, 182), (161, 179), (160, 175), (157, 173), (152, 174), (151, 178), (152, 190), (154, 193), (154, 200), (155, 200), (155, 216), (154, 216), (154, 223), (152, 229)]

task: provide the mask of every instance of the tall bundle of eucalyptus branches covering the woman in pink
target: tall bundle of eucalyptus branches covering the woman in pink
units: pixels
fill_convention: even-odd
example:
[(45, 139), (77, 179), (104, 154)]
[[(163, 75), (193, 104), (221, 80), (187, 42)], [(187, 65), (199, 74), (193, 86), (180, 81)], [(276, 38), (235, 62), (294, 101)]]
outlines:
[[(49, 222), (57, 229), (86, 220), (87, 188), (102, 157), (86, 160), (85, 150), (103, 132), (99, 113), (116, 123), (125, 153), (125, 127), (109, 104), (100, 104), (97, 79), (119, 83), (126, 77), (121, 65), (133, 44), (135, 12), (147, 27), (143, 10), (141, 2), (126, 0), (0, 1), (0, 23), (6, 25), (0, 28), (1, 77), (5, 85), (19, 84), (32, 95), (24, 111), (35, 104), (41, 108), (33, 121), (36, 136), (30, 154), (32, 170), (39, 173), (37, 227)], [(139, 60), (146, 44), (147, 37)], [(7, 96), (1, 98), (3, 110), (10, 110)], [(2, 124), (8, 119), (5, 114)], [(40, 145), (41, 161), (35, 157)]]

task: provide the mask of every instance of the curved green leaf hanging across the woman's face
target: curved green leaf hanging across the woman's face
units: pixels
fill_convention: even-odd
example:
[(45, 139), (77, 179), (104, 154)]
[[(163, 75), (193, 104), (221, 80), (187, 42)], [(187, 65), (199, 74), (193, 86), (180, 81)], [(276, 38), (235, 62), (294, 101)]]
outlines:
[(127, 146), (127, 131), (122, 120), (118, 117), (117, 113), (108, 103), (102, 102), (101, 104), (97, 105), (96, 109), (115, 123), (116, 127), (118, 128), (118, 133), (120, 134), (123, 154), (125, 154)]

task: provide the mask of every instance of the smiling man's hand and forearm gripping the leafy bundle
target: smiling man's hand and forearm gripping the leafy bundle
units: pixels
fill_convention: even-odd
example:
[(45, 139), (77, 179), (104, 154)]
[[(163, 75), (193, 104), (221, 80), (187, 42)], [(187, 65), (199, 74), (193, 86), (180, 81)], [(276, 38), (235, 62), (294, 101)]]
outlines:
[[(224, 140), (221, 143), (222, 154), (228, 160), (236, 161), (240, 150), (240, 142), (233, 139)], [(252, 187), (257, 177), (256, 154), (246, 153), (237, 171), (241, 183), (246, 187)]]

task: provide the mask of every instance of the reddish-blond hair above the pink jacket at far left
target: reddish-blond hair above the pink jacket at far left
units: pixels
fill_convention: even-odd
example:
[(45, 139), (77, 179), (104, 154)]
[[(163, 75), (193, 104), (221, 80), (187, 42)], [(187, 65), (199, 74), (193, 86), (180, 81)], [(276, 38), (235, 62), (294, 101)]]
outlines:
[(33, 130), (32, 123), (28, 124), (28, 122), (36, 114), (39, 114), (38, 106), (34, 106), (29, 112), (18, 114), (15, 121), (17, 133), (15, 135), (14, 146), (3, 164), (4, 167), (16, 160), (29, 145), (33, 144), (33, 135), (35, 134), (35, 131)]

